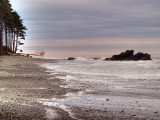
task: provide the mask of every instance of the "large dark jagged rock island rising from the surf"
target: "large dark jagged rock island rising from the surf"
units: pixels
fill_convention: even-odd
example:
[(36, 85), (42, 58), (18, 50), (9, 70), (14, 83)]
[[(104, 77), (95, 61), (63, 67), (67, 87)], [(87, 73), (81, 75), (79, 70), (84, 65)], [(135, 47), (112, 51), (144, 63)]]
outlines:
[(119, 55), (113, 55), (111, 58), (105, 58), (105, 61), (118, 61), (118, 60), (151, 60), (151, 55), (148, 53), (138, 52), (134, 55), (134, 50), (127, 50)]

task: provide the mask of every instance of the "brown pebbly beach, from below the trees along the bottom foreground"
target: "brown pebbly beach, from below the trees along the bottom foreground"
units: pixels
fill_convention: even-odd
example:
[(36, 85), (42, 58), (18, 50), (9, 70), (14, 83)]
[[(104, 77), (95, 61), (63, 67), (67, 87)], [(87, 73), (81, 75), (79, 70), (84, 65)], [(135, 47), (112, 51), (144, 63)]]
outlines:
[[(64, 87), (67, 82), (51, 74), (43, 66), (56, 64), (57, 60), (2, 56), (0, 61), (0, 119), (4, 120), (145, 120), (144, 115), (128, 114), (127, 111), (100, 110), (91, 107), (44, 104), (45, 100), (65, 100), (67, 94), (79, 94), (79, 87)], [(63, 87), (62, 87), (63, 86)], [(94, 91), (88, 91), (94, 92)], [(106, 91), (107, 92), (107, 91)], [(101, 92), (95, 94), (102, 94)], [(122, 95), (122, 94), (121, 94)], [(126, 98), (127, 95), (126, 94)], [(71, 96), (71, 95), (70, 95)], [(118, 95), (114, 95), (118, 96)], [(153, 95), (154, 96), (154, 95)], [(74, 96), (73, 96), (74, 98)], [(136, 97), (135, 97), (136, 98)], [(104, 98), (106, 102), (110, 99)], [(51, 101), (53, 102), (53, 101)], [(77, 101), (78, 102), (78, 101)], [(138, 102), (138, 101), (137, 101)], [(63, 109), (64, 107), (64, 109)], [(140, 112), (140, 111), (138, 111)], [(141, 112), (140, 112), (141, 113)], [(159, 113), (155, 111), (155, 120)], [(148, 119), (154, 119), (148, 118)]]

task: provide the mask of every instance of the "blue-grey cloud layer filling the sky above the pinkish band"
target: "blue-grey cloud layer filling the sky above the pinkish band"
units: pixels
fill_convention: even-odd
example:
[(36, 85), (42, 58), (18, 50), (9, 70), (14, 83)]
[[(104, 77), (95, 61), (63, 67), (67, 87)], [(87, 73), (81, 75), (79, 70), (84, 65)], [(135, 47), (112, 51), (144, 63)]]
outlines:
[(160, 37), (159, 0), (11, 1), (19, 2), (31, 40)]

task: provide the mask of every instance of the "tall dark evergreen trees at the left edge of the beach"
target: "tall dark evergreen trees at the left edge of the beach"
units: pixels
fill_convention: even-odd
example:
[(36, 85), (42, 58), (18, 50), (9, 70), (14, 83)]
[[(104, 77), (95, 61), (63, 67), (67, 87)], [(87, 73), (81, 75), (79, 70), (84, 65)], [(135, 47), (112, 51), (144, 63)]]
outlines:
[(16, 53), (21, 40), (25, 40), (26, 26), (20, 15), (12, 9), (9, 0), (0, 0), (0, 55)]

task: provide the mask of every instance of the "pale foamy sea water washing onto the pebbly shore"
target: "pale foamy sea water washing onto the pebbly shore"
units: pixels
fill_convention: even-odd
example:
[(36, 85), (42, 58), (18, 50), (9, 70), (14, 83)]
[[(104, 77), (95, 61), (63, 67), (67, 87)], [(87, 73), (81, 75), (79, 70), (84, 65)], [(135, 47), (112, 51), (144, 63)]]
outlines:
[(65, 99), (41, 99), (41, 103), (69, 111), (69, 106), (125, 111), (147, 118), (160, 118), (160, 59), (151, 61), (103, 61), (103, 58), (56, 59), (43, 67), (54, 78), (75, 88)]

